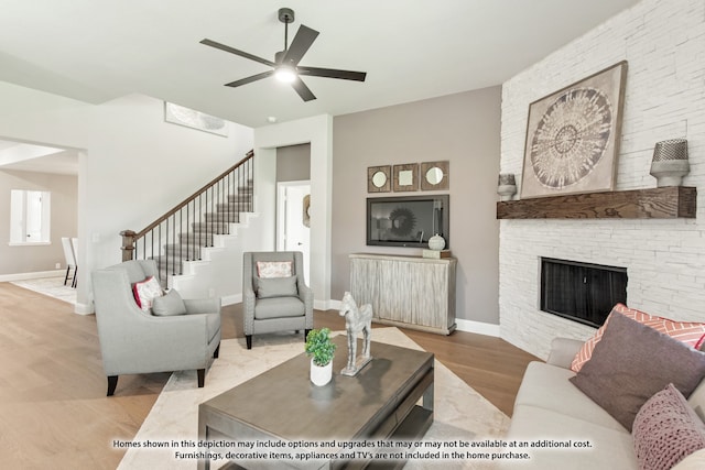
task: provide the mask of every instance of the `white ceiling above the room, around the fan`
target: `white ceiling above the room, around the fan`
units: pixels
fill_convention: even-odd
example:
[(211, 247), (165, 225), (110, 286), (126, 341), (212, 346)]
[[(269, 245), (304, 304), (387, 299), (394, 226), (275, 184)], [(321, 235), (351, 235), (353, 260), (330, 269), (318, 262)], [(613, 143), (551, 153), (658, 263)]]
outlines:
[[(102, 102), (139, 92), (249, 127), (345, 114), (499, 85), (638, 0), (32, 0), (0, 14), (0, 80)], [(365, 83), (306, 77), (303, 102), (267, 66), (276, 11), (321, 32), (301, 65), (367, 72)]]

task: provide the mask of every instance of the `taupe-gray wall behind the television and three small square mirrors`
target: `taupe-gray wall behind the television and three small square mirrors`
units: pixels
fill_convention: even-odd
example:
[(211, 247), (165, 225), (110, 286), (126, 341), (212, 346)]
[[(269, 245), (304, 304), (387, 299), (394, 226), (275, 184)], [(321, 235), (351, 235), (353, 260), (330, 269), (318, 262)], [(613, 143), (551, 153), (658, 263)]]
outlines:
[(349, 289), (350, 253), (421, 255), (421, 249), (366, 245), (367, 167), (447, 160), (457, 318), (499, 324), (500, 107), (501, 87), (491, 87), (334, 118), (333, 298)]

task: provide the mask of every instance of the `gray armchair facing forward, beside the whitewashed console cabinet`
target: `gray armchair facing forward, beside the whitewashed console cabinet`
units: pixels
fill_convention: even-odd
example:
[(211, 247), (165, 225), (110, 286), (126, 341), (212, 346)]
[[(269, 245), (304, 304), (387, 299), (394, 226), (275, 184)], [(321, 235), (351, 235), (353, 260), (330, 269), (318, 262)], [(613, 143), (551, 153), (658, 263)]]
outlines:
[[(288, 261), (292, 277), (262, 280), (258, 262)], [(242, 309), (247, 349), (252, 349), (252, 335), (313, 328), (313, 291), (304, 281), (303, 254), (299, 251), (246, 252), (242, 260)]]

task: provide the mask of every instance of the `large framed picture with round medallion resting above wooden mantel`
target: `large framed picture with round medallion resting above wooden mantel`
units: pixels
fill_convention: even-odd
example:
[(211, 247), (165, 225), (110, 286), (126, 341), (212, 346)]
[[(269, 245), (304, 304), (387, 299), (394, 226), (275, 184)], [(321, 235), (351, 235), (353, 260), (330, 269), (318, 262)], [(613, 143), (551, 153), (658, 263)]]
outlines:
[(627, 62), (529, 105), (521, 198), (612, 190)]

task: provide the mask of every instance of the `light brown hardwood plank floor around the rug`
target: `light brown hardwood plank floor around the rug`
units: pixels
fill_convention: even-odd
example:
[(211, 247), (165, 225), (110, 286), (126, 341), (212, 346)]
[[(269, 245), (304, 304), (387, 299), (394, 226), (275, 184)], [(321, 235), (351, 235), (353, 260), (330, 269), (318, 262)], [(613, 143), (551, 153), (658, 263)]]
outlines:
[[(223, 338), (242, 337), (241, 324), (240, 305), (225, 307)], [(345, 321), (316, 311), (314, 326), (343, 329)], [(534, 357), (481, 335), (404, 332), (511, 416)], [(116, 395), (106, 397), (95, 316), (10, 283), (0, 283), (0, 358), (3, 468), (115, 469), (123, 451), (112, 440), (134, 437), (170, 376), (120, 376)]]

